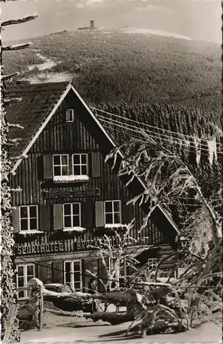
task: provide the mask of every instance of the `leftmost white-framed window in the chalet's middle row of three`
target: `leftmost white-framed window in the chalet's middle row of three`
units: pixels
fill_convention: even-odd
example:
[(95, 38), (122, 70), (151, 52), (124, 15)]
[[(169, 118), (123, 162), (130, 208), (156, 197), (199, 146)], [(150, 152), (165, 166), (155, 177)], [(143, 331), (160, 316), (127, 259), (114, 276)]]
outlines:
[(20, 230), (38, 230), (37, 206), (20, 206)]

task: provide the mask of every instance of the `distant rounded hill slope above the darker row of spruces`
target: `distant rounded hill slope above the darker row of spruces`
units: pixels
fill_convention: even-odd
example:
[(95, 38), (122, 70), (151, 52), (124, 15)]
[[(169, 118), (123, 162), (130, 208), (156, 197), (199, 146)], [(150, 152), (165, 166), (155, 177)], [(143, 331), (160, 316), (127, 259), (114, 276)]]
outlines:
[[(166, 36), (165, 36), (166, 35)], [(70, 72), (82, 96), (98, 103), (169, 103), (220, 111), (221, 47), (139, 29), (59, 32), (30, 39), (29, 50), (6, 52), (5, 72), (28, 71), (51, 57), (51, 72)]]

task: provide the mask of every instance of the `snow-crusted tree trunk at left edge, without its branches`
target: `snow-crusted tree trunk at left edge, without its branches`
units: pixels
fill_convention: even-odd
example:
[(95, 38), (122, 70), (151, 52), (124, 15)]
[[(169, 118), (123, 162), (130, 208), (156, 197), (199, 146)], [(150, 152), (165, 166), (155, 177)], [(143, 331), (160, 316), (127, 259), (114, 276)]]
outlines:
[(10, 323), (7, 341), (14, 343), (20, 341), (20, 333), (17, 316), (13, 316), (12, 321), (9, 319), (10, 309), (17, 301), (17, 292), (14, 284), (14, 233), (11, 225), (10, 159), (4, 96), (4, 85), (1, 83), (1, 341)]

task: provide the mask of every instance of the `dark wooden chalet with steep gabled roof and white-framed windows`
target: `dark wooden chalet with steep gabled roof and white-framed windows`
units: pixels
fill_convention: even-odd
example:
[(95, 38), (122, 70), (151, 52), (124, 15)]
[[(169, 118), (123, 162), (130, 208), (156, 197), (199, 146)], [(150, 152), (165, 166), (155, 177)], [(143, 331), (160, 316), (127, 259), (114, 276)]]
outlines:
[[(113, 161), (105, 163), (115, 145), (112, 133), (71, 83), (11, 85), (7, 98), (21, 98), (7, 106), (7, 116), (8, 122), (23, 127), (10, 127), (10, 140), (17, 141), (11, 157), (21, 157), (12, 160), (11, 175), (12, 189), (21, 188), (12, 191), (19, 299), (28, 296), (22, 288), (33, 276), (87, 291), (86, 270), (99, 277), (104, 273), (98, 251), (87, 246), (112, 225), (120, 227), (133, 218), (131, 235), (138, 243), (131, 250), (140, 253), (156, 246), (142, 264), (174, 249), (178, 228), (162, 207), (138, 233), (147, 208), (126, 203), (143, 189), (143, 182), (135, 179), (126, 187), (126, 180), (111, 169)], [(120, 274), (130, 270), (125, 266)]]

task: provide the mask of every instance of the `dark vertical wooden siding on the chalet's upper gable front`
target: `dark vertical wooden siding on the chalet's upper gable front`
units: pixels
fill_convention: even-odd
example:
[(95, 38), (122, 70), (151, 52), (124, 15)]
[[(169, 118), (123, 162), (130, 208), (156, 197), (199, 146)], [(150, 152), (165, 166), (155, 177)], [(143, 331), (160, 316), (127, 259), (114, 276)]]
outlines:
[[(65, 122), (65, 109), (74, 109), (74, 122)], [(129, 222), (135, 217), (134, 229), (131, 230), (133, 237), (138, 237), (143, 242), (149, 237), (149, 244), (160, 244), (163, 233), (156, 228), (153, 220), (149, 219), (148, 225), (140, 233), (145, 211), (136, 204), (126, 203), (131, 199), (131, 193), (125, 187), (125, 182), (117, 177), (116, 172), (111, 169), (112, 162), (105, 163), (108, 147), (101, 142), (100, 131), (92, 132), (92, 122), (89, 114), (84, 111), (76, 99), (68, 94), (50, 122), (47, 123), (39, 138), (33, 144), (28, 153), (28, 158), (23, 160), (17, 169), (16, 175), (12, 175), (12, 187), (21, 187), (22, 191), (12, 193), (12, 206), (19, 205), (47, 205), (44, 217), (47, 225), (39, 220), (40, 230), (61, 229), (62, 219), (53, 209), (61, 203), (81, 202), (83, 225), (86, 228), (94, 228), (96, 225), (96, 202), (105, 200), (121, 200), (123, 222)], [(92, 189), (99, 189), (100, 195), (92, 197), (63, 197), (45, 198), (43, 189), (59, 188), (60, 184), (52, 183), (52, 155), (53, 154), (87, 153), (89, 156), (89, 175), (87, 182)], [(63, 187), (84, 188), (85, 184), (69, 183)], [(136, 191), (134, 191), (136, 192)], [(39, 211), (39, 213), (42, 213)], [(49, 215), (50, 214), (50, 215)], [(50, 226), (50, 228), (49, 228)], [(87, 236), (92, 236), (92, 231), (87, 231)], [(68, 245), (68, 244), (67, 244)], [(71, 247), (71, 246), (70, 246)], [(68, 248), (67, 248), (68, 249)], [(68, 249), (70, 250), (70, 249)]]

